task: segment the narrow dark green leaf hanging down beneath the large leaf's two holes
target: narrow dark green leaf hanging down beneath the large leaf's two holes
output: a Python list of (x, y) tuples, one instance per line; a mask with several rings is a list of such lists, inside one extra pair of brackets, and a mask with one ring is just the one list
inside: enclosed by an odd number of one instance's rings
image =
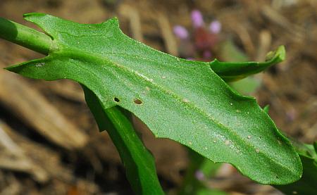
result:
[(164, 194), (156, 175), (154, 158), (144, 147), (128, 118), (116, 107), (104, 110), (97, 96), (87, 87), (82, 88), (99, 130), (107, 130), (116, 145), (135, 193)]

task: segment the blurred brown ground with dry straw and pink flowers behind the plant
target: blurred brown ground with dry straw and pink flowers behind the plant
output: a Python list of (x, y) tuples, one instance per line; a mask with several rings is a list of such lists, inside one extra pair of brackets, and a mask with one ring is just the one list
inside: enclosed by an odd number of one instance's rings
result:
[[(199, 61), (264, 61), (283, 44), (284, 62), (231, 85), (256, 96), (260, 106), (270, 105), (271, 118), (285, 134), (306, 143), (317, 139), (316, 0), (0, 1), (0, 17), (39, 30), (23, 20), (30, 12), (78, 23), (117, 16), (128, 36)], [(1, 69), (41, 57), (0, 39)], [(132, 120), (154, 154), (163, 189), (176, 194), (184, 187), (187, 149), (154, 139), (142, 122)], [(228, 164), (217, 165), (209, 177), (204, 172), (193, 177), (226, 194), (281, 194)], [(78, 84), (0, 70), (0, 194), (132, 194), (116, 148), (97, 130)]]

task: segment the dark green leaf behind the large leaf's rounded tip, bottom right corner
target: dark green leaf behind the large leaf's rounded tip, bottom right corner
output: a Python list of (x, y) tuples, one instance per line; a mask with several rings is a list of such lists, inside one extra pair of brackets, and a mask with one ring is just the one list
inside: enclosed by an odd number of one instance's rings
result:
[[(317, 141), (315, 142), (315, 144)], [(313, 145), (293, 141), (303, 164), (303, 176), (297, 182), (284, 186), (275, 186), (285, 194), (316, 194), (317, 191), (317, 151)]]

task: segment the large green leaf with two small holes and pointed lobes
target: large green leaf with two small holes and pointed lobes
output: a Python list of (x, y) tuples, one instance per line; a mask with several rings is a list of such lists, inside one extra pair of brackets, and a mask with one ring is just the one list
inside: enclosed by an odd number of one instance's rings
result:
[(222, 70), (221, 63), (187, 61), (151, 49), (123, 34), (116, 18), (94, 25), (42, 13), (25, 19), (42, 27), (54, 44), (49, 56), (8, 70), (80, 82), (104, 109), (121, 106), (156, 137), (185, 144), (214, 162), (231, 163), (262, 184), (287, 184), (302, 175), (290, 141), (255, 99), (232, 92), (211, 70), (212, 65)]

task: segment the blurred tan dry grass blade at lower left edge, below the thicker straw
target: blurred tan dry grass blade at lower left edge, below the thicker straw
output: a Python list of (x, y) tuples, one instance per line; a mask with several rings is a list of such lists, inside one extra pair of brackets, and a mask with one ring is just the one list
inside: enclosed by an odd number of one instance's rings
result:
[(1, 168), (27, 172), (41, 183), (51, 178), (64, 182), (74, 180), (71, 172), (61, 165), (58, 153), (26, 139), (1, 121), (0, 146), (6, 151), (1, 153)]

